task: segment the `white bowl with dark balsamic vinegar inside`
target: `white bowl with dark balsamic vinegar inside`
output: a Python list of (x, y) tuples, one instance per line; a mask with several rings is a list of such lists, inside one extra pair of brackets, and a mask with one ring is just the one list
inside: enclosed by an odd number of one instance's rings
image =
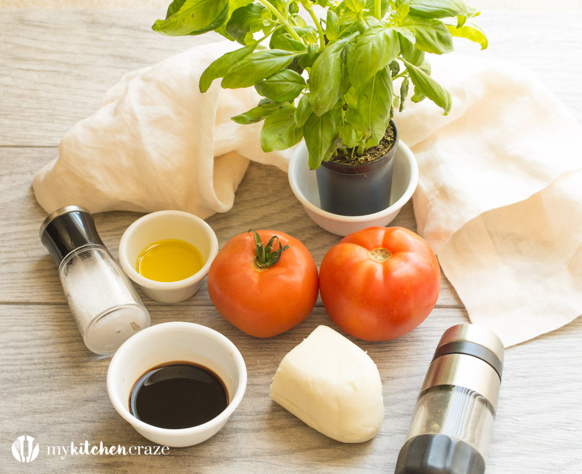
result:
[(162, 323), (130, 337), (107, 372), (113, 408), (142, 436), (170, 447), (214, 436), (246, 384), (236, 346), (213, 329), (187, 322)]

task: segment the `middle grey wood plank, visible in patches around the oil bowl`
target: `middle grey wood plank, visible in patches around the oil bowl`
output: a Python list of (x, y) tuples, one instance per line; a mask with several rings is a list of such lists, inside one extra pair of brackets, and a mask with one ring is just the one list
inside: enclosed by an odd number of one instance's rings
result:
[[(65, 304), (55, 262), (38, 237), (46, 213), (37, 204), (31, 189), (34, 173), (47, 160), (47, 155), (52, 156), (55, 152), (56, 148), (0, 148), (0, 265), (5, 275), (0, 280), (0, 302)], [(123, 232), (141, 215), (136, 212), (95, 215), (101, 238), (115, 256)], [(211, 216), (207, 222), (217, 233), (220, 247), (230, 237), (251, 228), (292, 234), (306, 245), (318, 266), (325, 252), (340, 240), (307, 217), (303, 206), (294, 197), (285, 173), (258, 163), (251, 163), (237, 190), (233, 208)], [(416, 230), (411, 202), (404, 206), (393, 225)], [(196, 296), (181, 305), (212, 304), (205, 285), (204, 280)], [(157, 304), (144, 294), (141, 296), (148, 307)], [(444, 276), (438, 304), (462, 307), (455, 289)]]

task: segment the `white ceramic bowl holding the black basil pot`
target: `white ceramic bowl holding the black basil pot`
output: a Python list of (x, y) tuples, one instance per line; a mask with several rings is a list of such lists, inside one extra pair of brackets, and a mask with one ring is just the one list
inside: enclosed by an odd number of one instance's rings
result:
[(416, 158), (410, 148), (400, 140), (394, 156), (391, 205), (382, 211), (364, 216), (333, 214), (320, 207), (317, 177), (315, 171), (309, 169), (308, 158), (307, 147), (303, 141), (295, 149), (289, 162), (289, 184), (308, 216), (322, 229), (338, 236), (347, 236), (366, 227), (388, 225), (412, 197), (418, 184)]

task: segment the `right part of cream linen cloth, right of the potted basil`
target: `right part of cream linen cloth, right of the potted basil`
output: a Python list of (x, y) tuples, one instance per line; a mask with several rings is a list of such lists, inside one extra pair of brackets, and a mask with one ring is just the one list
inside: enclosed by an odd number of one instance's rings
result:
[(418, 233), (471, 322), (506, 346), (582, 313), (582, 130), (528, 70), (463, 56), (434, 60), (453, 99), (398, 118), (418, 160)]

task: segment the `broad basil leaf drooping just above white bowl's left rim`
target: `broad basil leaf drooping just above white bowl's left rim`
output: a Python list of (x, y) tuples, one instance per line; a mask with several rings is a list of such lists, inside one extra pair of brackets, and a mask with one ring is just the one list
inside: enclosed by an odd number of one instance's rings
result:
[(261, 129), (261, 148), (265, 152), (284, 150), (299, 143), (303, 127), (297, 127), (294, 107), (285, 107), (265, 119)]

